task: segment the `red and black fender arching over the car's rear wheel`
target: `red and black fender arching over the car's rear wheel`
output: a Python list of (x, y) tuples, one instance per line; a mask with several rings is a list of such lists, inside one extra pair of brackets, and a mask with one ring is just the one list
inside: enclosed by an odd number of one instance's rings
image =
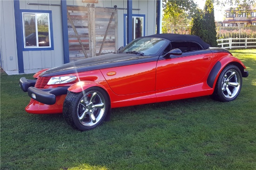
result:
[(213, 66), (213, 68), (211, 69), (209, 76), (207, 78), (207, 84), (210, 88), (215, 88), (215, 85), (216, 85), (219, 75), (221, 74), (222, 70), (229, 64), (236, 65), (240, 69), (240, 71), (243, 75), (244, 69), (246, 69), (246, 67), (239, 59), (237, 59), (236, 57), (232, 57), (232, 56), (222, 57)]

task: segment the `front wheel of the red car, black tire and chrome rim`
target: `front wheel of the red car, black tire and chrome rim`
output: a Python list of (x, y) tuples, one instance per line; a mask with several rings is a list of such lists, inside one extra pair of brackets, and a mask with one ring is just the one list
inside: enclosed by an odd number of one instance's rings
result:
[(87, 131), (101, 125), (108, 107), (108, 94), (101, 88), (92, 87), (80, 93), (69, 91), (63, 103), (63, 117), (75, 129)]

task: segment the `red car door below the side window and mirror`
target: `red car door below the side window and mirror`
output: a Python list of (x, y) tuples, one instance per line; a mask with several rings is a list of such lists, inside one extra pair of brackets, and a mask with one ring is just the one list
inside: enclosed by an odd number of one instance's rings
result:
[(159, 57), (155, 90), (177, 88), (200, 82), (212, 62), (210, 50), (183, 52), (182, 55)]

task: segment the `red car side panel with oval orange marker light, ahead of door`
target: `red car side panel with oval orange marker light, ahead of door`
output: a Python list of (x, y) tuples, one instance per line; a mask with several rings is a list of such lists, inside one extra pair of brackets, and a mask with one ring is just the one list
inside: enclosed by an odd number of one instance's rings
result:
[(109, 69), (101, 69), (109, 87), (115, 94), (137, 94), (155, 90), (155, 61), (143, 62)]

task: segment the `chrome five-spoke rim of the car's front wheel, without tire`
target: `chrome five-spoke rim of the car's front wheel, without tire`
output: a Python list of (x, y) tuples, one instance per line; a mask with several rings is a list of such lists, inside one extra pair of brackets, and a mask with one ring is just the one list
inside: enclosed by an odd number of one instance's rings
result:
[(77, 106), (77, 117), (83, 126), (93, 126), (101, 120), (105, 112), (104, 96), (98, 91), (90, 91), (81, 98)]

